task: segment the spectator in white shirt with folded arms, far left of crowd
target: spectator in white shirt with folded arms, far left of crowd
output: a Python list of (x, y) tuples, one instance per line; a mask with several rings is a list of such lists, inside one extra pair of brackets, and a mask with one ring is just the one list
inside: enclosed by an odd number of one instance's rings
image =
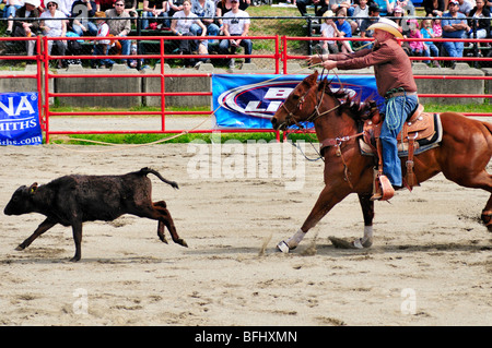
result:
[[(43, 12), (39, 16), (39, 27), (43, 34), (47, 37), (65, 37), (67, 34), (67, 21), (55, 20), (66, 19), (63, 12), (58, 11), (58, 0), (48, 0), (46, 4), (47, 11)], [(67, 40), (48, 40), (48, 55), (51, 55), (52, 46), (58, 49), (59, 56), (65, 56), (67, 51)], [(63, 68), (63, 62), (58, 60), (58, 68)]]

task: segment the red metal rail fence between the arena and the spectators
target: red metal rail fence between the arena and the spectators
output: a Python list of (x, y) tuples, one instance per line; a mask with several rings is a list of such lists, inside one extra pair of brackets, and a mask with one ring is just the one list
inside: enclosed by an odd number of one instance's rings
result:
[[(180, 92), (180, 93), (169, 93), (165, 91), (165, 77), (207, 77), (210, 76), (209, 73), (190, 73), (190, 74), (173, 74), (167, 73), (164, 69), (164, 62), (167, 59), (183, 59), (183, 58), (197, 58), (196, 55), (169, 55), (164, 51), (165, 43), (167, 40), (180, 40), (180, 39), (202, 39), (203, 37), (176, 37), (176, 36), (163, 36), (163, 37), (145, 37), (147, 40), (155, 40), (159, 43), (160, 46), (160, 52), (155, 55), (138, 55), (138, 56), (110, 56), (112, 59), (160, 59), (161, 60), (161, 70), (159, 72), (153, 73), (145, 73), (144, 77), (159, 77), (160, 79), (160, 87), (161, 91), (159, 93), (55, 93), (50, 91), (50, 81), (56, 79), (80, 79), (80, 77), (87, 77), (87, 74), (56, 74), (52, 73), (49, 69), (49, 63), (52, 60), (58, 59), (105, 59), (108, 58), (108, 56), (50, 56), (48, 55), (48, 39), (52, 40), (75, 40), (81, 39), (80, 37), (60, 37), (60, 38), (48, 38), (48, 37), (34, 37), (34, 38), (0, 38), (0, 41), (3, 40), (36, 40), (37, 49), (35, 56), (0, 56), (1, 60), (30, 60), (35, 61), (37, 65), (37, 72), (33, 74), (7, 74), (1, 75), (3, 79), (36, 79), (37, 83), (37, 92), (39, 95), (43, 95), (43, 105), (42, 98), (39, 99), (39, 110), (40, 110), (40, 124), (43, 128), (43, 131), (46, 134), (46, 142), (49, 143), (50, 135), (54, 134), (124, 134), (124, 133), (183, 133), (183, 132), (189, 132), (189, 133), (210, 133), (214, 130), (168, 130), (166, 128), (166, 116), (167, 115), (204, 115), (204, 116), (211, 116), (213, 113), (213, 110), (210, 111), (166, 111), (166, 105), (165, 105), (165, 98), (166, 96), (211, 96), (211, 92)], [(213, 37), (210, 37), (212, 39)], [(229, 37), (221, 37), (221, 39), (227, 39)], [(231, 37), (235, 38), (235, 37)], [(288, 70), (288, 62), (290, 60), (295, 59), (305, 59), (306, 56), (295, 56), (289, 53), (289, 44), (292, 40), (309, 40), (313, 41), (313, 37), (288, 37), (288, 36), (262, 36), (262, 37), (246, 37), (253, 40), (256, 39), (262, 39), (262, 40), (273, 40), (274, 41), (274, 51), (270, 55), (211, 55), (207, 56), (207, 58), (211, 59), (229, 59), (229, 58), (261, 58), (261, 59), (271, 59), (274, 62), (274, 72), (277, 74), (281, 73), (280, 71), (280, 63), (283, 64), (282, 73), (286, 74)], [(98, 40), (101, 38), (97, 37), (83, 37), (84, 40)], [(119, 39), (128, 39), (128, 40), (138, 40), (141, 39), (141, 37), (121, 37)], [(316, 38), (316, 40), (323, 40), (324, 38)], [(337, 39), (337, 38), (331, 38)], [(339, 38), (338, 38), (339, 39)], [(349, 39), (349, 38), (347, 38)], [(367, 39), (361, 39), (361, 38), (350, 38), (351, 40), (365, 40)], [(405, 40), (405, 39), (403, 39)], [(429, 39), (412, 39), (412, 40), (429, 40)], [(435, 39), (435, 41), (444, 41), (446, 39)], [(491, 44), (491, 39), (459, 39), (460, 41), (465, 43), (487, 43)], [(43, 47), (43, 50), (42, 50)], [(204, 56), (200, 56), (204, 57)], [(440, 61), (491, 61), (490, 58), (477, 58), (477, 57), (462, 57), (462, 58), (452, 58), (452, 57), (411, 57), (412, 60), (434, 60), (438, 59)], [(104, 74), (97, 74), (97, 77), (101, 79), (120, 79), (120, 77), (141, 77), (140, 74), (134, 73), (115, 73), (115, 72), (108, 72)], [(465, 75), (415, 75), (415, 79), (434, 79), (434, 80), (491, 80), (492, 76), (465, 76)], [(49, 127), (49, 119), (51, 116), (105, 116), (105, 115), (115, 115), (115, 111), (83, 111), (83, 112), (56, 112), (51, 111), (51, 107), (49, 104), (49, 99), (51, 97), (115, 97), (115, 96), (157, 96), (161, 97), (161, 110), (159, 111), (118, 111), (118, 115), (121, 116), (143, 116), (143, 115), (152, 115), (152, 116), (160, 116), (161, 117), (161, 129), (160, 130), (131, 130), (131, 131), (118, 131), (118, 130), (110, 130), (110, 131), (101, 131), (101, 130), (93, 130), (93, 131), (52, 131)], [(436, 97), (446, 97), (446, 98), (492, 98), (492, 94), (419, 94), (420, 97), (429, 97), (429, 98), (436, 98)], [(492, 115), (489, 113), (466, 113), (467, 116), (481, 116), (481, 117), (490, 117)], [(221, 130), (222, 131), (222, 130)], [(239, 130), (226, 130), (225, 132), (273, 132), (271, 129), (260, 129), (260, 130), (247, 130), (247, 129), (239, 129)], [(279, 132), (276, 132), (277, 139), (280, 139)]]

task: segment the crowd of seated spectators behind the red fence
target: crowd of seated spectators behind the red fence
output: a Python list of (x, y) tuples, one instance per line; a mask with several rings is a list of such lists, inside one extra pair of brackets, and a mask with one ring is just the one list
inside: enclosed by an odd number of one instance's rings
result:
[[(142, 29), (166, 29), (175, 36), (203, 37), (176, 41), (176, 55), (199, 53), (200, 59), (186, 60), (199, 67), (207, 62), (211, 50), (221, 55), (233, 55), (243, 47), (245, 55), (251, 55), (253, 43), (243, 38), (249, 34), (249, 14), (246, 9), (250, 0), (0, 0), (0, 10), (7, 21), (5, 34), (13, 37), (98, 37), (92, 43), (94, 56), (109, 53), (137, 53), (136, 44), (119, 37), (129, 36), (132, 24)], [(142, 1), (142, 3), (139, 3)], [(425, 19), (417, 20), (411, 0), (294, 0), (301, 15), (308, 15), (308, 5), (315, 5), (314, 14), (321, 17), (319, 25), (320, 49), (327, 52), (352, 52), (358, 47), (371, 47), (372, 41), (333, 40), (354, 36), (371, 38), (367, 28), (379, 17), (387, 16), (400, 27), (403, 37), (422, 40), (405, 41), (409, 56), (462, 57), (462, 41), (434, 43), (434, 38), (490, 38), (491, 7), (488, 0), (423, 0)], [(137, 10), (140, 9), (140, 19)], [(15, 20), (19, 19), (19, 20)], [(3, 22), (5, 23), (5, 22)], [(211, 39), (215, 37), (216, 39)], [(221, 39), (234, 36), (234, 39)], [(207, 39), (204, 37), (208, 37)], [(331, 38), (331, 40), (330, 40)], [(59, 56), (80, 55), (79, 40), (48, 40), (48, 51)], [(35, 41), (23, 41), (27, 55), (33, 55)], [(131, 62), (130, 62), (131, 61)], [(136, 60), (120, 60), (128, 67)], [(249, 62), (246, 58), (245, 62)], [(440, 67), (435, 59), (424, 60)], [(93, 59), (92, 68), (112, 67), (112, 59)], [(65, 67), (59, 61), (58, 67)], [(229, 60), (235, 67), (235, 60)]]

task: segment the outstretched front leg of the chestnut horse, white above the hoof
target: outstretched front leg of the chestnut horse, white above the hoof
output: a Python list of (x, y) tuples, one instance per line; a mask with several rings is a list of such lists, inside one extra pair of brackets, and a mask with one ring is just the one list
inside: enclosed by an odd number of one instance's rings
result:
[(350, 191), (340, 192), (336, 191), (333, 185), (326, 185), (319, 194), (315, 206), (311, 211), (303, 226), (294, 233), (294, 236), (278, 243), (277, 249), (284, 253), (288, 253), (290, 250), (294, 250), (303, 240), (304, 236), (306, 236), (307, 231), (315, 227), (316, 224), (318, 224), (319, 220), (349, 193)]

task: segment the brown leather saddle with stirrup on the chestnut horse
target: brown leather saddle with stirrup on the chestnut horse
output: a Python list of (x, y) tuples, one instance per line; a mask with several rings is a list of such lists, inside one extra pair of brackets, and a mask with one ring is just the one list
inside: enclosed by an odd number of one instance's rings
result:
[[(405, 185), (411, 191), (419, 185), (413, 172), (413, 155), (421, 154), (427, 149), (438, 146), (443, 132), (438, 113), (424, 112), (424, 107), (419, 104), (417, 109), (405, 122), (398, 134), (398, 156), (408, 157), (406, 161)], [(361, 154), (374, 156), (378, 159), (374, 170), (374, 185), (372, 200), (387, 201), (393, 197), (395, 190), (386, 176), (383, 175), (383, 151), (380, 144), (380, 116), (374, 112), (362, 127), (363, 136), (359, 139)]]

